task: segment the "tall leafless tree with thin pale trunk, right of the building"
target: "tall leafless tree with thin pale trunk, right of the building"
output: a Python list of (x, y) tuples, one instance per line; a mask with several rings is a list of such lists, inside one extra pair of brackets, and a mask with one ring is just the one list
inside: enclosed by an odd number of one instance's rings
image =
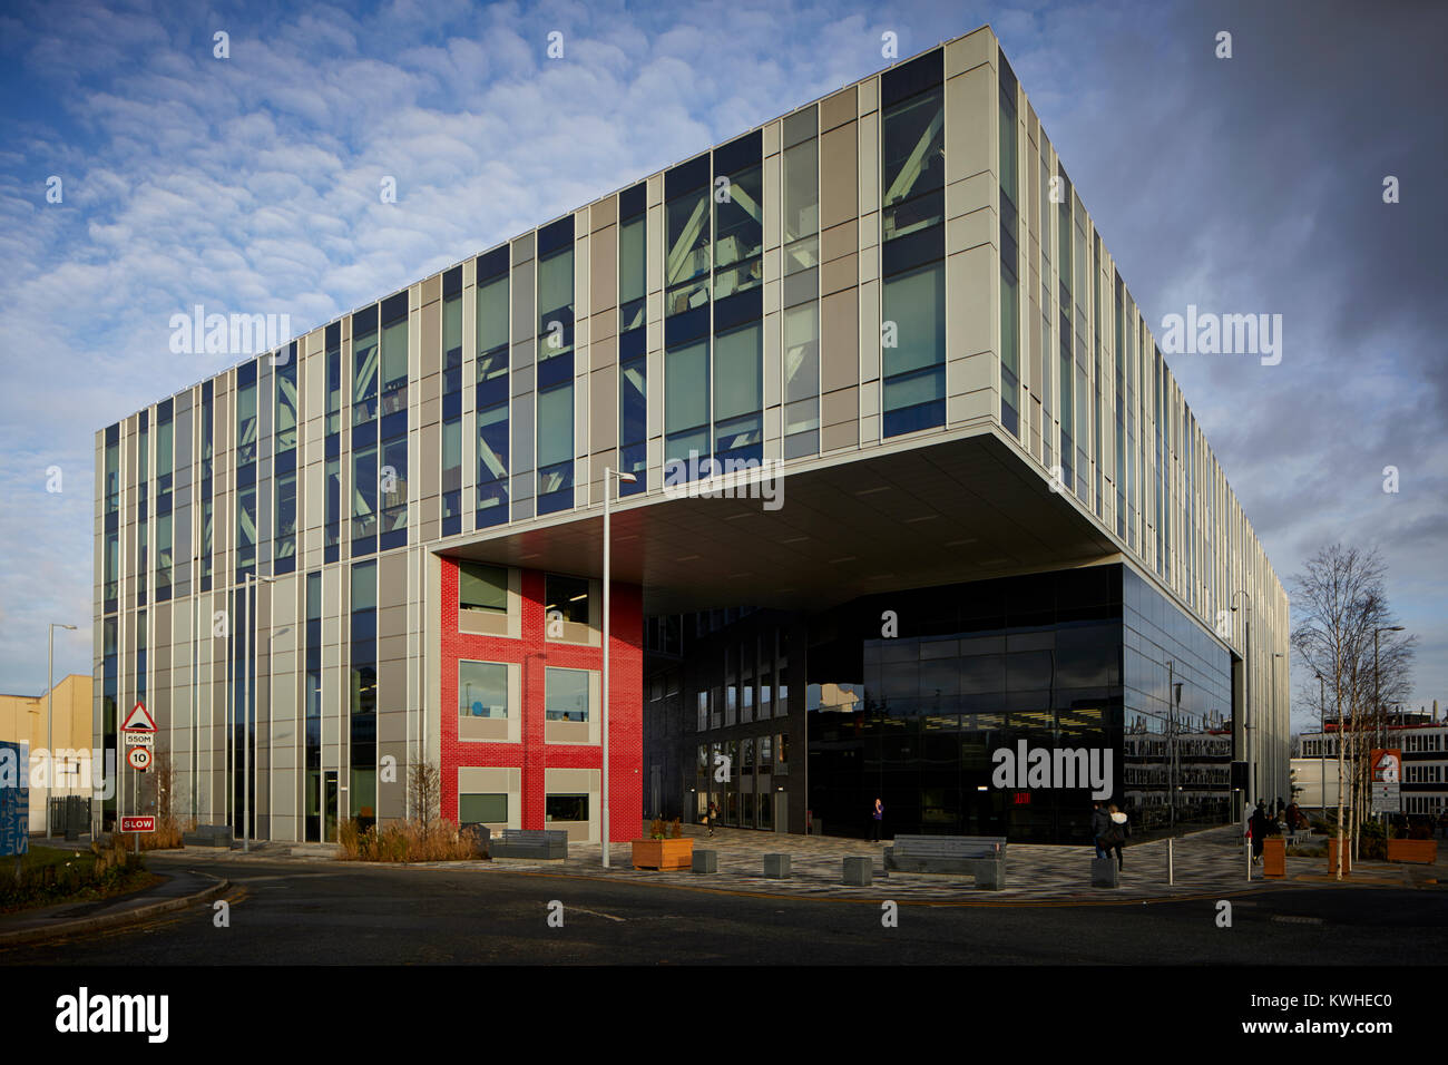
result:
[[(1297, 625), (1292, 632), (1292, 646), (1308, 668), (1322, 674), (1337, 706), (1338, 880), (1342, 878), (1347, 845), (1344, 816), (1351, 817), (1352, 827), (1347, 835), (1355, 845), (1360, 819), (1365, 813), (1367, 767), (1361, 752), (1368, 723), (1377, 723), (1378, 700), (1374, 693), (1378, 687), (1384, 693), (1406, 691), (1410, 675), (1412, 638), (1384, 642), (1378, 653), (1381, 668), (1374, 671), (1373, 633), (1393, 625), (1386, 581), (1387, 567), (1376, 549), (1364, 552), (1342, 543), (1321, 548), (1308, 559), (1303, 572), (1293, 578)], [(1347, 782), (1352, 785), (1352, 801), (1344, 810)]]

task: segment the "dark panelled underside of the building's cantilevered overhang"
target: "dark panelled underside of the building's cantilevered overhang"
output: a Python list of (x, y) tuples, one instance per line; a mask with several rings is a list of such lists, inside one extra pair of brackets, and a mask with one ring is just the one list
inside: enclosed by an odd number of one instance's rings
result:
[[(613, 507), (614, 581), (641, 585), (649, 614), (818, 610), (877, 591), (1119, 558), (1080, 503), (1053, 493), (989, 426), (794, 461), (773, 493), (769, 500), (766, 483), (763, 498), (626, 497)], [(598, 577), (602, 507), (465, 533), (434, 551)]]

